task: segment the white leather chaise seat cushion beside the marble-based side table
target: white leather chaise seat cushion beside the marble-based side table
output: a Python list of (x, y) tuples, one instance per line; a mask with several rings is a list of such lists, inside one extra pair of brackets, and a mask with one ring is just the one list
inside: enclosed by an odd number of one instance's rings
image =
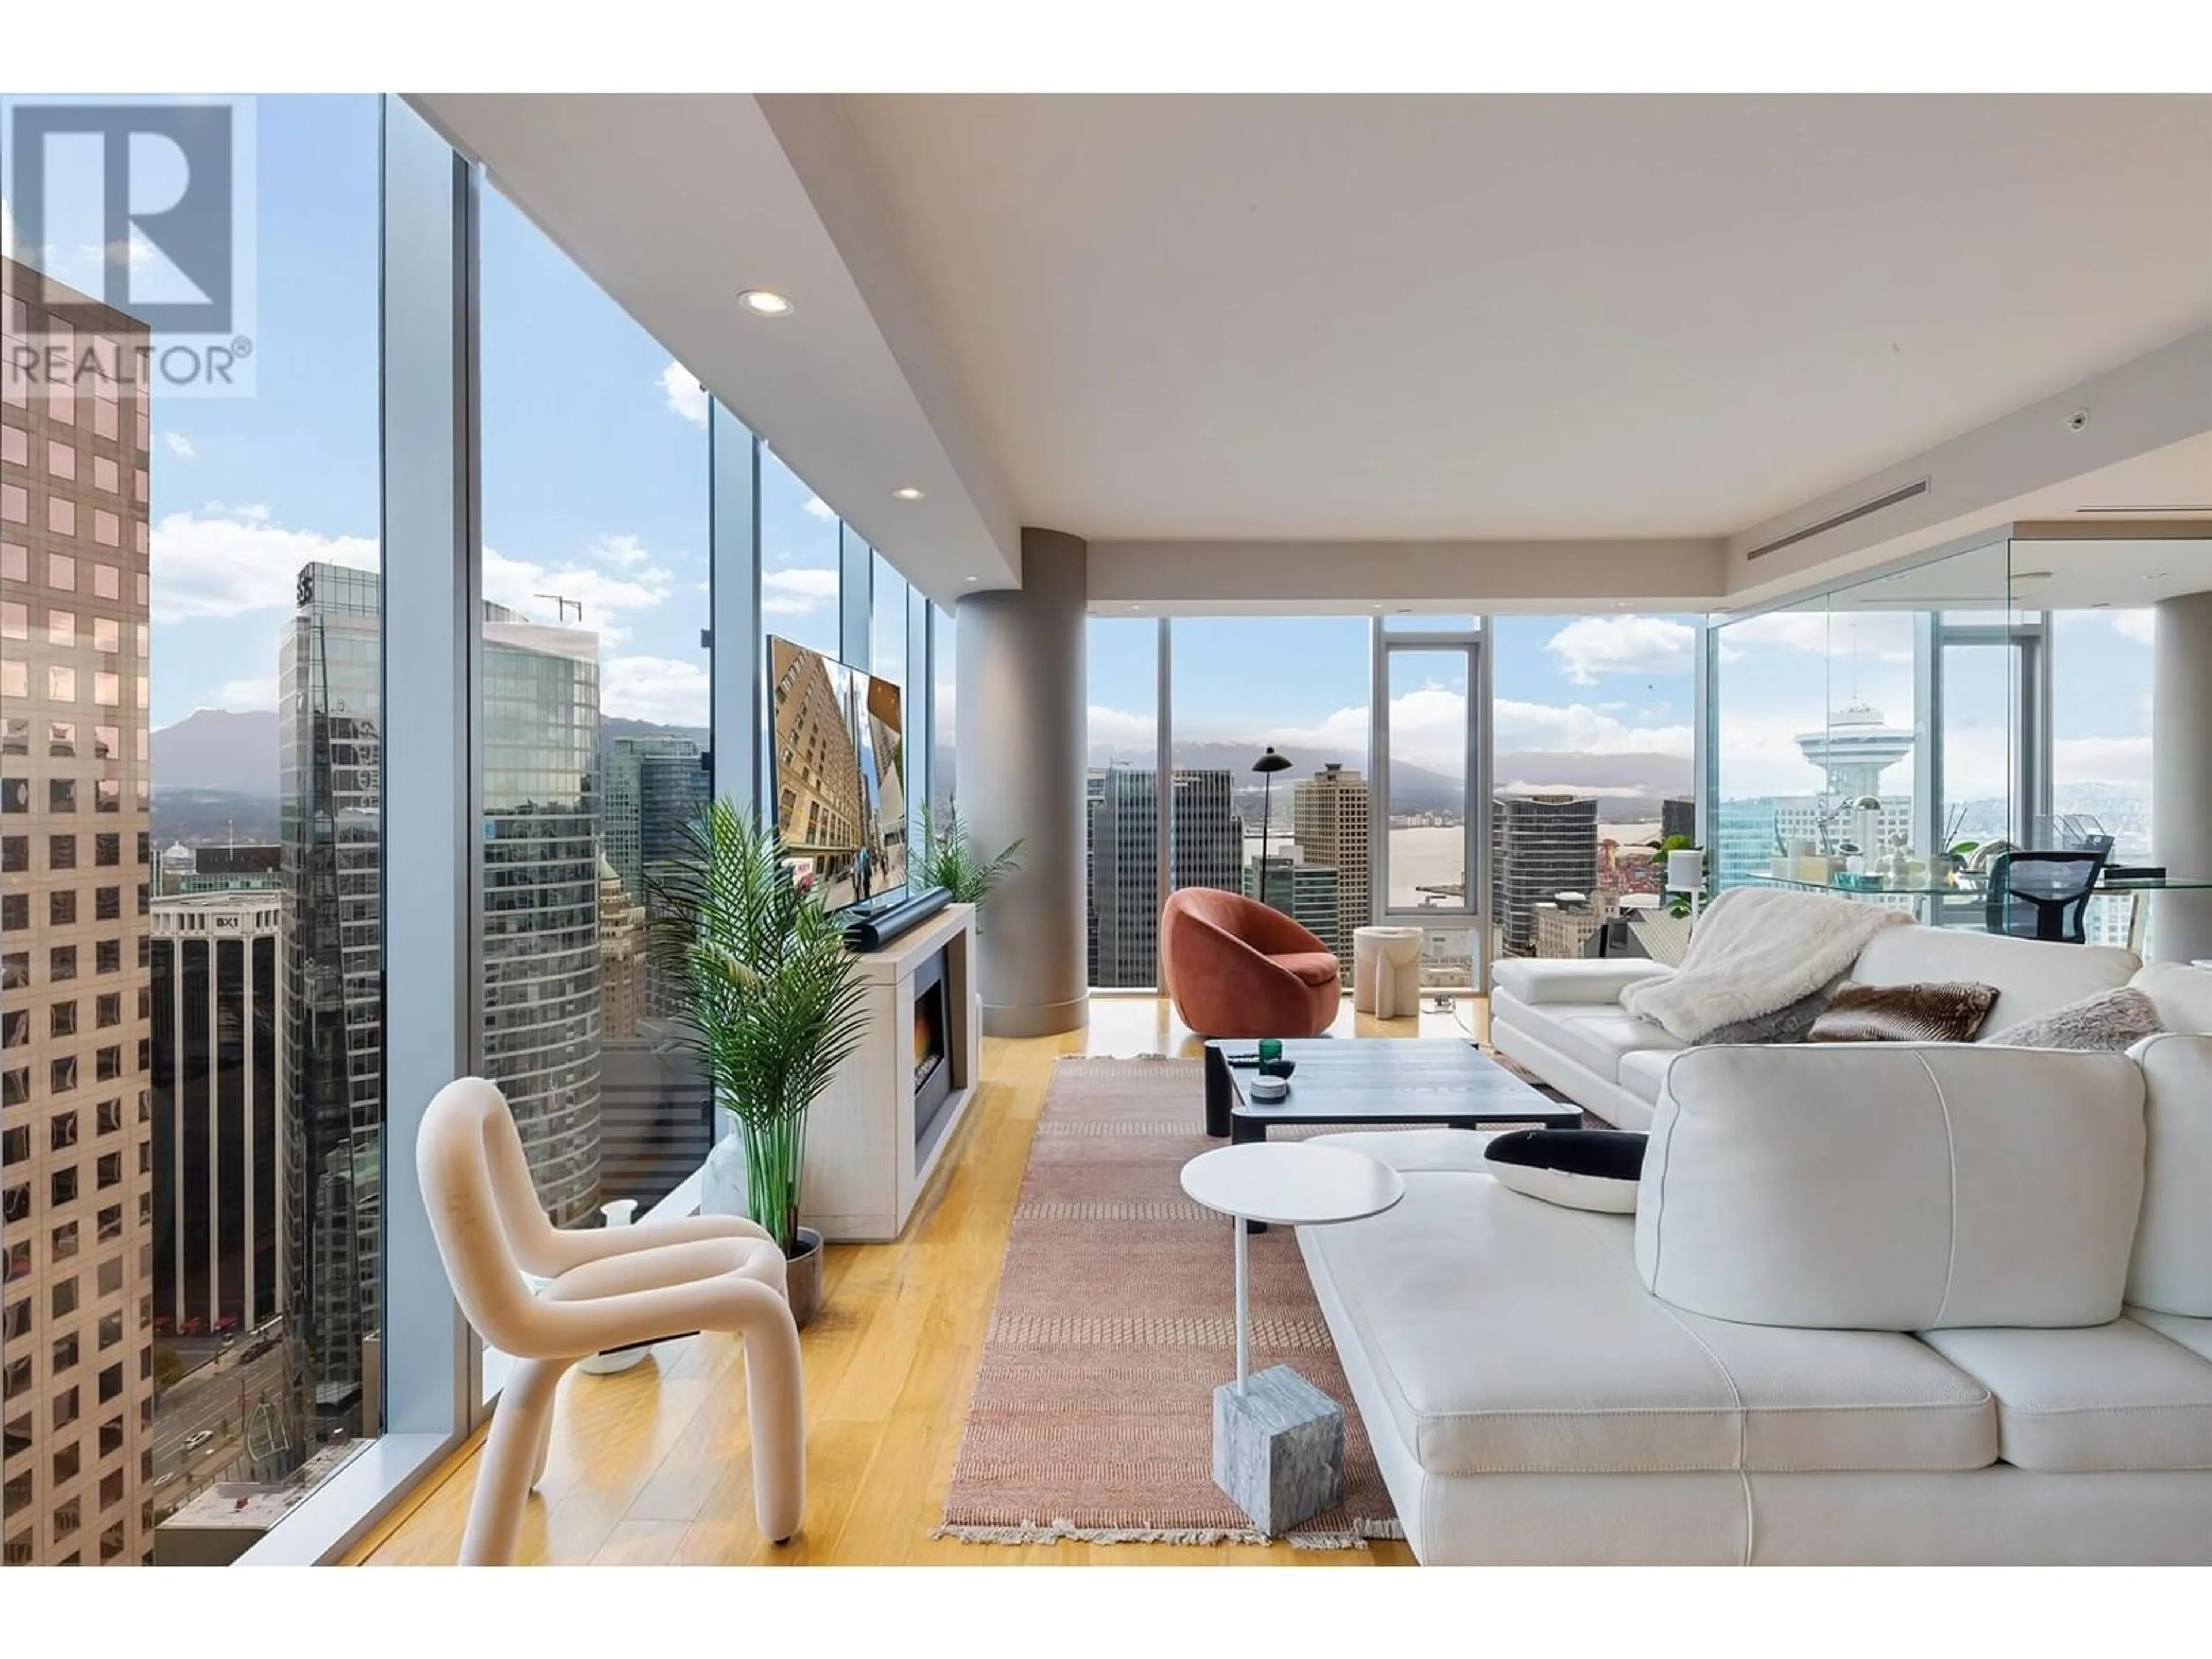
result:
[[(1398, 1137), (1332, 1139), (1387, 1152)], [(1387, 1422), (1363, 1402), (1369, 1433), (1396, 1431), (1429, 1475), (1995, 1458), (1989, 1391), (1909, 1336), (1697, 1318), (1644, 1292), (1628, 1217), (1478, 1175), (1405, 1186), (1394, 1210), (1303, 1228), (1298, 1248), (1387, 1402)]]

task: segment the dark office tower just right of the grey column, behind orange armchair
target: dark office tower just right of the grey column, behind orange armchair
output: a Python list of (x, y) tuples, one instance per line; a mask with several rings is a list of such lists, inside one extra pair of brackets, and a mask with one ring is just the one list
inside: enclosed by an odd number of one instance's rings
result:
[[(1177, 770), (1172, 783), (1170, 887), (1241, 889), (1243, 821), (1232, 779)], [(1093, 982), (1152, 984), (1159, 971), (1159, 774), (1113, 765), (1091, 807)]]

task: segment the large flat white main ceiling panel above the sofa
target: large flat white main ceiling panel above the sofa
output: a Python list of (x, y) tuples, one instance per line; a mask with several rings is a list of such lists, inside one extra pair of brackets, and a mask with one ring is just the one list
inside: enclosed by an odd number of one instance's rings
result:
[(1022, 522), (1723, 535), (2212, 319), (2212, 100), (843, 97)]

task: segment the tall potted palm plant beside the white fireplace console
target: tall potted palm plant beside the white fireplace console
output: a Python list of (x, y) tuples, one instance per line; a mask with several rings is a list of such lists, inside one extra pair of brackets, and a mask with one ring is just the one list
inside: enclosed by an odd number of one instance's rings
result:
[(821, 1307), (821, 1234), (799, 1225), (807, 1108), (860, 1044), (865, 987), (845, 931), (792, 880), (783, 841), (721, 799), (646, 874), (653, 949), (688, 989), (677, 1013), (734, 1121), (745, 1214), (781, 1245), (792, 1316)]

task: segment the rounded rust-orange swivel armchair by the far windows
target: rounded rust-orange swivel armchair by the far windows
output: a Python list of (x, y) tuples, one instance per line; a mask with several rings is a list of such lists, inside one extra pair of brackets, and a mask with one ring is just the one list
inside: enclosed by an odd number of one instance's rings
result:
[(1159, 916), (1159, 964), (1206, 1037), (1316, 1037), (1343, 1004), (1343, 964), (1290, 916), (1217, 887), (1181, 887)]

